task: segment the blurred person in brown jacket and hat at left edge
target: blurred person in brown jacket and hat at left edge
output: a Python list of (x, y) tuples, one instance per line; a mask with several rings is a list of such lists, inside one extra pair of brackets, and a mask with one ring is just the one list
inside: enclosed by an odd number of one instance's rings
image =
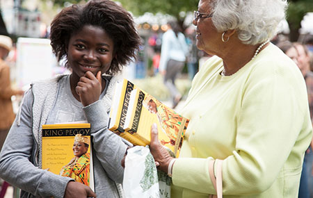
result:
[(22, 90), (11, 88), (10, 67), (5, 60), (12, 49), (12, 45), (11, 38), (6, 35), (0, 35), (0, 151), (10, 126), (15, 119), (11, 97), (24, 94)]

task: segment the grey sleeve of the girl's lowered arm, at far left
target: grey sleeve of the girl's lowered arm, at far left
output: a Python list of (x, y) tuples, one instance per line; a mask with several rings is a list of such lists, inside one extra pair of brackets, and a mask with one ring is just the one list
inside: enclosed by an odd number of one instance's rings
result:
[(28, 91), (20, 107), (20, 125), (17, 126), (17, 117), (1, 150), (0, 177), (36, 197), (62, 198), (72, 179), (41, 170), (31, 163), (31, 154), (36, 147), (31, 128), (32, 103), (33, 95)]

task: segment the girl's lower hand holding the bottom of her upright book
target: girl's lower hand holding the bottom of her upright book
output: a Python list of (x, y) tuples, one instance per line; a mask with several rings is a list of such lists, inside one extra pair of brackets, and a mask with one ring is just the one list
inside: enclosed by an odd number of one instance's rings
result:
[(93, 190), (91, 190), (87, 185), (84, 185), (83, 183), (79, 183), (77, 181), (70, 181), (69, 183), (67, 183), (64, 198), (72, 197), (86, 198), (97, 197), (97, 195), (95, 195), (95, 192), (93, 192)]

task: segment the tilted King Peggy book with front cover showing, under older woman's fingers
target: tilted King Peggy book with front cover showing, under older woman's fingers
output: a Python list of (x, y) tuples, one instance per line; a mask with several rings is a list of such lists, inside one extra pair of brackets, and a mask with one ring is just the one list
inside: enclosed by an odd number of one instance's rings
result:
[(161, 144), (178, 157), (188, 122), (147, 92), (139, 88), (131, 91), (124, 129), (131, 134), (129, 141), (134, 145), (149, 145), (151, 126), (157, 123)]

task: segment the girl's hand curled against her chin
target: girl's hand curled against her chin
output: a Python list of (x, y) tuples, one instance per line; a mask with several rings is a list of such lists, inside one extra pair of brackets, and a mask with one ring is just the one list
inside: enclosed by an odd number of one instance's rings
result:
[(93, 75), (92, 72), (86, 72), (85, 76), (82, 76), (77, 83), (75, 90), (79, 94), (79, 99), (83, 106), (88, 106), (98, 101), (102, 91), (101, 72), (99, 71), (97, 76)]

